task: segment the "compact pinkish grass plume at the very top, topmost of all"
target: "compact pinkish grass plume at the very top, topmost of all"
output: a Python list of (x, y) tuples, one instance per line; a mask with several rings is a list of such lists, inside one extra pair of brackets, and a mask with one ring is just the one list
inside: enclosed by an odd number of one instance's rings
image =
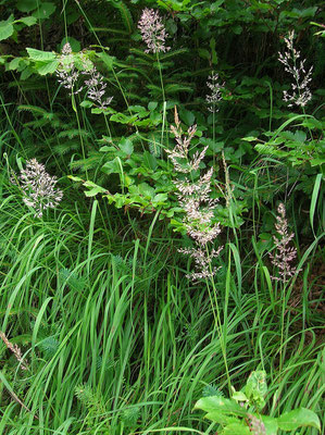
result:
[(171, 47), (165, 46), (165, 39), (168, 36), (161, 16), (153, 9), (143, 9), (141, 18), (138, 23), (141, 32), (142, 40), (147, 44), (146, 53), (159, 53), (160, 51), (168, 51)]

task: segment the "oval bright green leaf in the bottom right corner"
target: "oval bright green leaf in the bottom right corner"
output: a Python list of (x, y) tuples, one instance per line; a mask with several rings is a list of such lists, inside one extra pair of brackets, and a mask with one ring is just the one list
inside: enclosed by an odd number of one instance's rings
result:
[(321, 422), (317, 414), (307, 408), (293, 409), (277, 419), (278, 427), (283, 431), (296, 431), (301, 426), (312, 426), (321, 431)]

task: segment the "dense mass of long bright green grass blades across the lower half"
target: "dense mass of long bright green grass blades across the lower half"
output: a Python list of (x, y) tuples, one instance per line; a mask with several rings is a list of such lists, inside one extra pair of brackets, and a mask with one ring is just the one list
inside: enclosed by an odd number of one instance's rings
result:
[[(207, 388), (228, 391), (213, 301), (186, 279), (164, 226), (149, 240), (130, 225), (128, 241), (111, 238), (108, 250), (101, 206), (39, 222), (16, 195), (2, 197), (1, 331), (28, 370), (1, 346), (0, 432), (212, 434), (192, 408)], [(216, 295), (232, 384), (263, 366), (276, 397), (271, 415), (321, 412), (321, 320), (300, 331), (293, 312), (282, 340), (280, 303), (270, 306), (265, 282), (255, 291), (257, 281), (243, 281), (240, 290), (238, 268), (232, 279), (221, 274)]]

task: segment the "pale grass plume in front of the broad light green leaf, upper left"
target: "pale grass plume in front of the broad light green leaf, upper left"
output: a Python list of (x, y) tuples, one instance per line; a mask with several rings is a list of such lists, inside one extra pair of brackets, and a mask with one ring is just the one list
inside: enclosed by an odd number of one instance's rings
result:
[(58, 82), (61, 83), (65, 89), (70, 89), (70, 95), (76, 95), (83, 90), (83, 86), (75, 89), (80, 73), (74, 64), (74, 57), (68, 42), (66, 42), (62, 48), (60, 64), (55, 74)]

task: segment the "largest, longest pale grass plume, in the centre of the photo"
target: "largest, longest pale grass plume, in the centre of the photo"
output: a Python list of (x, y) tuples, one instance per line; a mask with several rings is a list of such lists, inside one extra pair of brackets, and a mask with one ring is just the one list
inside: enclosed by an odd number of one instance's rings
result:
[(199, 170), (208, 147), (201, 152), (197, 151), (192, 157), (189, 157), (189, 145), (196, 134), (197, 126), (189, 127), (187, 134), (183, 135), (176, 110), (175, 124), (176, 126), (171, 126), (171, 130), (175, 135), (176, 146), (173, 150), (167, 150), (167, 153), (173, 162), (175, 172), (182, 176), (182, 179), (174, 182), (177, 188), (176, 196), (179, 206), (185, 211), (183, 223), (188, 235), (195, 241), (193, 248), (179, 249), (179, 252), (193, 259), (196, 270), (188, 274), (187, 277), (197, 281), (212, 277), (215, 274), (216, 268), (211, 266), (211, 261), (213, 258), (218, 257), (222, 250), (222, 247), (209, 249), (209, 244), (213, 243), (221, 233), (220, 224), (213, 223), (214, 208), (217, 200), (210, 197), (213, 167), (205, 174), (200, 175), (196, 182), (189, 177), (192, 175), (192, 171)]

